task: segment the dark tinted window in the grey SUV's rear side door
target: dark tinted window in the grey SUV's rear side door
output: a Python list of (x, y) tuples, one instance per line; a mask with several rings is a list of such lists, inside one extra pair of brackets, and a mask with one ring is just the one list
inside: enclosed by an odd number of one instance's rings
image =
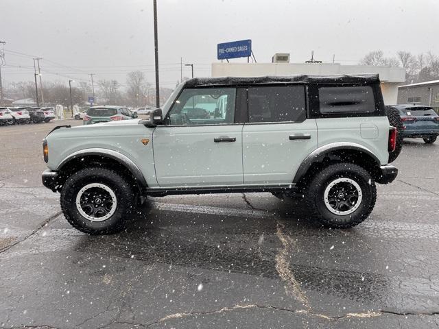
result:
[(301, 122), (305, 119), (304, 86), (248, 88), (248, 122)]

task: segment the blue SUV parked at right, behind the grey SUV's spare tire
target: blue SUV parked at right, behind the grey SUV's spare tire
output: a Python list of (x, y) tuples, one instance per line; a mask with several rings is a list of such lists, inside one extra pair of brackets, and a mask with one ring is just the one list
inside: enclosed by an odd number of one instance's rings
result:
[(423, 138), (427, 144), (434, 143), (439, 135), (439, 115), (430, 106), (390, 105), (398, 110), (403, 138)]

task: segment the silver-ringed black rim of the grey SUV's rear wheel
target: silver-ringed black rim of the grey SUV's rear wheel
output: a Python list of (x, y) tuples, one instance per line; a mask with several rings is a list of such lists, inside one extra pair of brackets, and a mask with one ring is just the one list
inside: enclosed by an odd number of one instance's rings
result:
[(349, 215), (361, 204), (363, 193), (351, 178), (337, 178), (324, 190), (324, 204), (335, 215)]

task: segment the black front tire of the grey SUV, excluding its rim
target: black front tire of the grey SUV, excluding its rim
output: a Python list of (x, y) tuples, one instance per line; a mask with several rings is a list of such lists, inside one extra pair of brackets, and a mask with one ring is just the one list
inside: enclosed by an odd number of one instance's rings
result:
[[(91, 221), (83, 217), (76, 207), (76, 196), (86, 184), (101, 183), (116, 195), (114, 214), (104, 221)], [(87, 234), (113, 234), (124, 230), (126, 221), (135, 211), (135, 193), (128, 180), (115, 171), (104, 168), (86, 168), (73, 173), (62, 186), (61, 209), (74, 228)]]

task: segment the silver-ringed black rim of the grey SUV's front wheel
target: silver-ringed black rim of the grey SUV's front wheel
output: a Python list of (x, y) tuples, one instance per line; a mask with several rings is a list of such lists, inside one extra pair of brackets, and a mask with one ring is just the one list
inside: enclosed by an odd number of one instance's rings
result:
[(76, 208), (89, 221), (105, 221), (116, 211), (116, 195), (104, 184), (87, 184), (76, 195)]

